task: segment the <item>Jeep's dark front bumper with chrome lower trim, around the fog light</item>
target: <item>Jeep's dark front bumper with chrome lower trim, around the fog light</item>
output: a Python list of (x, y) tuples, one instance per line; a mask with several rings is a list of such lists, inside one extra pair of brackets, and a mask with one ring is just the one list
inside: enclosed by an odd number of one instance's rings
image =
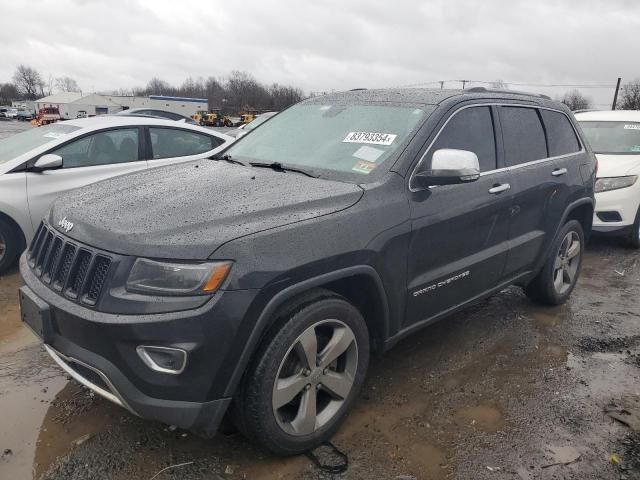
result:
[[(231, 403), (225, 390), (240, 354), (234, 345), (255, 291), (219, 292), (181, 312), (116, 315), (52, 291), (24, 255), (20, 271), (21, 296), (46, 309), (45, 349), (69, 375), (140, 417), (215, 433)], [(153, 371), (137, 354), (139, 345), (184, 349), (187, 366), (179, 375)]]

